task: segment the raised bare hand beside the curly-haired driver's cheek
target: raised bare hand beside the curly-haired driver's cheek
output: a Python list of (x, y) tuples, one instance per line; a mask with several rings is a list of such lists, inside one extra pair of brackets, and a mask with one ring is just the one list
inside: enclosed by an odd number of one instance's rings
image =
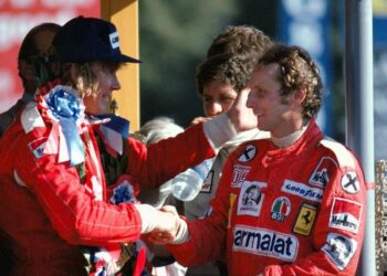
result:
[(257, 116), (247, 107), (250, 88), (245, 87), (238, 94), (227, 115), (238, 132), (257, 128)]

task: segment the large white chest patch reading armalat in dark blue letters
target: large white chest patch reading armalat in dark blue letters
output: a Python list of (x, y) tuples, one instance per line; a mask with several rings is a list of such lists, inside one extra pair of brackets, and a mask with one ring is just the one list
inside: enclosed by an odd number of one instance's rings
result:
[(266, 229), (236, 225), (232, 251), (293, 262), (297, 256), (299, 240), (294, 235)]

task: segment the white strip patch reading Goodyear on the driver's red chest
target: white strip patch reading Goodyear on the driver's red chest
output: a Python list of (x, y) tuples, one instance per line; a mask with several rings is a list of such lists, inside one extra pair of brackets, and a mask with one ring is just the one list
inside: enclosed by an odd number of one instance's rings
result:
[(320, 188), (312, 188), (304, 183), (295, 182), (289, 179), (285, 179), (285, 181), (283, 182), (282, 191), (306, 200), (317, 202), (322, 201), (324, 193), (324, 190)]

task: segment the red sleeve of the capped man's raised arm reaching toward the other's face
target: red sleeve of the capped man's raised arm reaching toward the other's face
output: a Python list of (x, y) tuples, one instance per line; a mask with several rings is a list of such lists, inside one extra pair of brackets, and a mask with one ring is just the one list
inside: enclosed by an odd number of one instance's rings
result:
[(187, 128), (182, 134), (145, 146), (129, 138), (127, 140), (127, 173), (142, 184), (157, 187), (179, 172), (215, 156), (202, 124)]

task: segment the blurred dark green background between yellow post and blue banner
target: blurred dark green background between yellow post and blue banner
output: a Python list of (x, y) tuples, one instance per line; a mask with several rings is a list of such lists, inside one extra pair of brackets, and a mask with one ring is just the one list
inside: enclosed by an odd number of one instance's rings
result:
[(172, 117), (187, 127), (202, 115), (196, 66), (229, 24), (249, 24), (274, 36), (275, 1), (140, 0), (140, 120)]

